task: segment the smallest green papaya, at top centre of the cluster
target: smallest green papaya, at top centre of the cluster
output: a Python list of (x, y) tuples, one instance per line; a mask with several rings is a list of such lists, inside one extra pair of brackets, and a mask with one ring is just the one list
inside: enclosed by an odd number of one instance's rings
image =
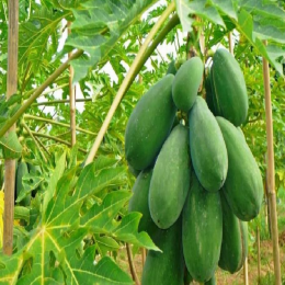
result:
[(173, 80), (173, 101), (179, 110), (189, 112), (193, 106), (203, 79), (204, 65), (200, 57), (186, 60)]

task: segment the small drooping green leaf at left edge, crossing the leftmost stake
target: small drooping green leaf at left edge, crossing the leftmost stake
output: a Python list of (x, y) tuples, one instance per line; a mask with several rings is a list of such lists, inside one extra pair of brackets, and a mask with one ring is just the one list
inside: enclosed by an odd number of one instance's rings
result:
[(15, 132), (10, 132), (0, 138), (0, 148), (2, 148), (4, 159), (18, 159), (22, 156), (22, 146)]

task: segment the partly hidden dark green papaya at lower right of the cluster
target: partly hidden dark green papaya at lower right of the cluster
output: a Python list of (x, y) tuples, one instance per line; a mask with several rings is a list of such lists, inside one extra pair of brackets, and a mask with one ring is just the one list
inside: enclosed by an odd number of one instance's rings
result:
[(223, 242), (219, 266), (232, 274), (242, 267), (248, 255), (248, 224), (233, 215), (223, 193), (220, 200), (223, 207)]

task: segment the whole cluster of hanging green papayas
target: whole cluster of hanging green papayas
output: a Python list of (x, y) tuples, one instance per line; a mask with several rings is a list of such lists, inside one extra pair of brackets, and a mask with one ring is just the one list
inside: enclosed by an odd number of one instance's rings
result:
[[(263, 197), (260, 169), (239, 127), (248, 113), (246, 82), (225, 49), (213, 57), (206, 101), (198, 95), (198, 57), (170, 69), (141, 96), (125, 134), (126, 159), (138, 173), (129, 210), (142, 214), (139, 230), (162, 251), (148, 252), (141, 284), (215, 284), (218, 266), (241, 269), (247, 221)], [(187, 119), (178, 119), (178, 111)]]

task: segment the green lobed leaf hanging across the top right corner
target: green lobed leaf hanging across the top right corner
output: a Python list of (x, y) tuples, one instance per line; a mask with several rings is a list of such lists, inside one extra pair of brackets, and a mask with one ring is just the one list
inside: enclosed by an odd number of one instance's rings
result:
[[(176, 10), (185, 32), (192, 31), (193, 15), (224, 26), (221, 16), (227, 16), (236, 29), (247, 37), (260, 55), (267, 58), (283, 73), (281, 58), (285, 52), (285, 11), (273, 1), (255, 0), (175, 0)], [(269, 46), (262, 42), (267, 39)]]

